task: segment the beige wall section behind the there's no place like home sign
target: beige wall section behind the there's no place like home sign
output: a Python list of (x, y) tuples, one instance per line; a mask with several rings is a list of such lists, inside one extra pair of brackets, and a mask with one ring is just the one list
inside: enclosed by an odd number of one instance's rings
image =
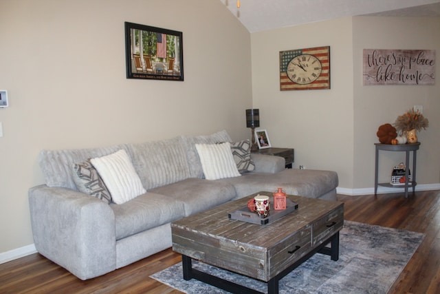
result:
[[(377, 128), (394, 123), (414, 105), (423, 105), (430, 127), (418, 133), (417, 183), (440, 182), (440, 18), (355, 17), (353, 19), (355, 165), (353, 187), (374, 182), (374, 147)], [(436, 50), (435, 85), (362, 85), (363, 49)], [(389, 181), (391, 168), (404, 162), (404, 152), (380, 151), (380, 182)], [(412, 166), (412, 165), (411, 165)]]

